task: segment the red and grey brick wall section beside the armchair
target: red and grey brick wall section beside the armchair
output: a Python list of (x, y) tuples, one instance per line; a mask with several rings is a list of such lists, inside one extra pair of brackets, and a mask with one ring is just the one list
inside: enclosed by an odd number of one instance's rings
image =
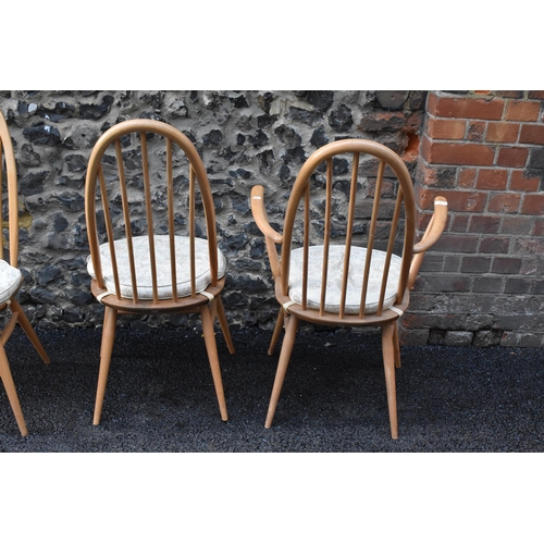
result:
[(420, 228), (449, 202), (404, 319), (408, 344), (544, 345), (544, 91), (429, 91)]

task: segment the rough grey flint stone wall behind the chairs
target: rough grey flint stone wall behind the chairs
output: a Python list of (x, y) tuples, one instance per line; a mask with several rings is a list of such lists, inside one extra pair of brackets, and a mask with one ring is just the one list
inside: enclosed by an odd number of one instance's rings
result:
[[(39, 327), (101, 324), (102, 307), (90, 295), (85, 268), (87, 160), (110, 126), (149, 118), (185, 133), (208, 169), (228, 261), (224, 306), (231, 326), (271, 327), (277, 304), (249, 208), (251, 187), (265, 186), (270, 219), (281, 225), (288, 190), (313, 150), (337, 138), (368, 137), (403, 154), (420, 131), (425, 97), (366, 90), (0, 91), (20, 183), (21, 304)], [(407, 160), (413, 173), (413, 157)], [(187, 320), (122, 318), (133, 327)]]

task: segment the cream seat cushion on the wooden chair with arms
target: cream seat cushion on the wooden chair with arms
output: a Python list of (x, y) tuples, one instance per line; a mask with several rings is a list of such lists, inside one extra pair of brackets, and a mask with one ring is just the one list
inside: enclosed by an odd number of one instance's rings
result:
[[(301, 304), (302, 301), (302, 248), (298, 248), (294, 249), (290, 254), (289, 298), (296, 304)], [(331, 313), (339, 312), (344, 254), (345, 246), (329, 247), (325, 311)], [(372, 250), (364, 313), (375, 313), (378, 310), (385, 257), (385, 251)], [(359, 313), (366, 259), (367, 248), (351, 246), (346, 306), (344, 310), (346, 313)], [(384, 310), (391, 308), (395, 302), (401, 262), (403, 259), (400, 257), (392, 255), (383, 301)], [(323, 246), (311, 246), (308, 257), (307, 306), (313, 309), (320, 308), (322, 264)]]

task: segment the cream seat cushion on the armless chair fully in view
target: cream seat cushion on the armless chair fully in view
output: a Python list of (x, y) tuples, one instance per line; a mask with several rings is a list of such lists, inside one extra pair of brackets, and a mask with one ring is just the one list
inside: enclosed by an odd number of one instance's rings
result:
[[(177, 296), (186, 297), (190, 295), (190, 254), (189, 238), (185, 236), (174, 236), (175, 238), (175, 260), (176, 260), (176, 287)], [(115, 256), (118, 261), (119, 282), (121, 297), (133, 298), (133, 286), (131, 280), (131, 268), (128, 260), (128, 248), (126, 238), (114, 242)], [(149, 259), (149, 239), (147, 236), (133, 238), (134, 260), (136, 267), (136, 283), (138, 298), (152, 300), (153, 290), (151, 282), (151, 265)], [(170, 237), (166, 235), (154, 236), (154, 252), (157, 263), (157, 284), (159, 299), (172, 298), (172, 273), (170, 264)], [(108, 243), (100, 246), (100, 259), (106, 288), (115, 294), (115, 283), (111, 264), (110, 248)], [(195, 238), (195, 267), (196, 267), (196, 290), (206, 290), (211, 282), (211, 272), (208, 256), (208, 240)], [(218, 248), (218, 277), (223, 277), (226, 270), (226, 260)], [(90, 256), (87, 258), (87, 271), (96, 280), (95, 270)]]

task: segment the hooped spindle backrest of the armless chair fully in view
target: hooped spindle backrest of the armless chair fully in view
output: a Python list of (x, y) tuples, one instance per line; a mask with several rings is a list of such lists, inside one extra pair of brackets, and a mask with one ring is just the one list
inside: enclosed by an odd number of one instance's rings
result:
[[(171, 256), (172, 251), (174, 251), (174, 238), (173, 238), (173, 227), (174, 227), (174, 215), (173, 215), (173, 175), (172, 175), (172, 145), (176, 145), (183, 152), (185, 153), (187, 160), (188, 160), (188, 169), (189, 169), (189, 186), (190, 186), (190, 194), (191, 196), (189, 197), (189, 205), (191, 207), (191, 210), (189, 211), (189, 221), (194, 222), (195, 220), (195, 212), (194, 212), (194, 207), (195, 207), (195, 197), (193, 195), (194, 193), (194, 185), (195, 185), (195, 180), (198, 183), (199, 191), (200, 191), (200, 197), (201, 197), (201, 203), (203, 206), (205, 210), (205, 221), (206, 221), (206, 231), (207, 231), (207, 238), (208, 238), (208, 250), (209, 250), (209, 262), (210, 262), (210, 271), (211, 271), (211, 285), (214, 286), (218, 283), (218, 246), (217, 246), (217, 231), (215, 231), (215, 211), (214, 211), (214, 203), (213, 203), (213, 197), (211, 194), (210, 189), (210, 184), (208, 180), (208, 175), (206, 173), (206, 169), (203, 166), (203, 163), (200, 159), (200, 156), (198, 154), (198, 151), (196, 150), (195, 146), (193, 143), (185, 136), (181, 131), (175, 128), (172, 125), (169, 125), (166, 123), (163, 123), (161, 121), (156, 121), (156, 120), (147, 120), (147, 119), (136, 119), (136, 120), (128, 120), (128, 121), (123, 121), (111, 128), (109, 128), (96, 143), (92, 152), (89, 158), (89, 163), (88, 163), (88, 169), (87, 169), (87, 176), (86, 176), (86, 186), (85, 186), (85, 214), (86, 214), (86, 221), (87, 221), (87, 232), (88, 232), (88, 238), (89, 238), (89, 249), (90, 249), (90, 257), (92, 260), (92, 268), (96, 273), (96, 280), (98, 287), (103, 289), (104, 288), (104, 283), (103, 283), (103, 276), (101, 272), (101, 262), (100, 262), (100, 251), (99, 251), (99, 238), (98, 238), (98, 230), (97, 230), (97, 217), (96, 217), (96, 190), (97, 190), (97, 181), (100, 185), (100, 193), (102, 195), (102, 198), (104, 197), (106, 193), (106, 181), (103, 177), (102, 173), (102, 157), (104, 156), (106, 151), (108, 148), (114, 144), (115, 145), (115, 156), (118, 158), (118, 163), (120, 164), (120, 170), (119, 170), (119, 178), (120, 178), (120, 185), (121, 185), (121, 198), (123, 202), (123, 213), (125, 214), (124, 217), (124, 222), (125, 222), (125, 228), (127, 233), (127, 245), (129, 246), (128, 251), (132, 255), (132, 234), (131, 234), (131, 224), (128, 221), (128, 211), (127, 211), (127, 205), (126, 205), (126, 182), (124, 181), (124, 174), (122, 170), (122, 152), (121, 152), (121, 145), (120, 145), (120, 138), (127, 134), (132, 133), (137, 133), (139, 134), (140, 137), (140, 149), (141, 149), (141, 160), (143, 160), (143, 173), (144, 173), (144, 190), (146, 193), (145, 195), (145, 200), (146, 200), (146, 217), (148, 221), (148, 239), (149, 239), (149, 246), (150, 246), (150, 254), (151, 254), (151, 274), (153, 276), (153, 301), (158, 301), (158, 295), (157, 295), (157, 270), (156, 270), (156, 264), (154, 264), (154, 242), (153, 242), (153, 224), (152, 224), (152, 209), (151, 209), (151, 195), (150, 195), (150, 172), (148, 171), (148, 157), (147, 157), (147, 143), (146, 143), (146, 134), (152, 133), (152, 134), (158, 134), (160, 136), (163, 136), (165, 139), (165, 157), (166, 157), (166, 190), (168, 190), (168, 201), (169, 201), (169, 211), (168, 211), (168, 225), (169, 225), (169, 232), (170, 232), (170, 250), (171, 250)], [(104, 210), (104, 217), (108, 213), (108, 202), (103, 201), (102, 207)], [(110, 218), (106, 217), (106, 223), (107, 227), (108, 225), (111, 225)], [(111, 228), (111, 226), (110, 226)], [(190, 231), (190, 256), (191, 256), (191, 294), (193, 296), (195, 295), (195, 267), (194, 267), (194, 260), (195, 260), (195, 250), (194, 250), (194, 236), (195, 236), (195, 228), (194, 224), (189, 225), (189, 231)], [(108, 232), (108, 240), (110, 243), (110, 255), (112, 257), (112, 261), (115, 261), (115, 251), (113, 249), (113, 232)], [(171, 259), (174, 261), (174, 259)], [(115, 268), (115, 262), (113, 262), (113, 267)], [(132, 272), (132, 279), (133, 279), (133, 293), (134, 293), (134, 301), (136, 302), (138, 299), (137, 295), (137, 288), (135, 285), (135, 273), (134, 273), (134, 262), (133, 259), (131, 258), (131, 272)], [(176, 277), (175, 277), (175, 265), (172, 262), (172, 293), (173, 293), (173, 298), (174, 300), (177, 299), (177, 292), (175, 288), (176, 284)], [(114, 274), (115, 276), (115, 290), (118, 298), (120, 297), (120, 288), (119, 288), (119, 283), (116, 279), (116, 273)]]

